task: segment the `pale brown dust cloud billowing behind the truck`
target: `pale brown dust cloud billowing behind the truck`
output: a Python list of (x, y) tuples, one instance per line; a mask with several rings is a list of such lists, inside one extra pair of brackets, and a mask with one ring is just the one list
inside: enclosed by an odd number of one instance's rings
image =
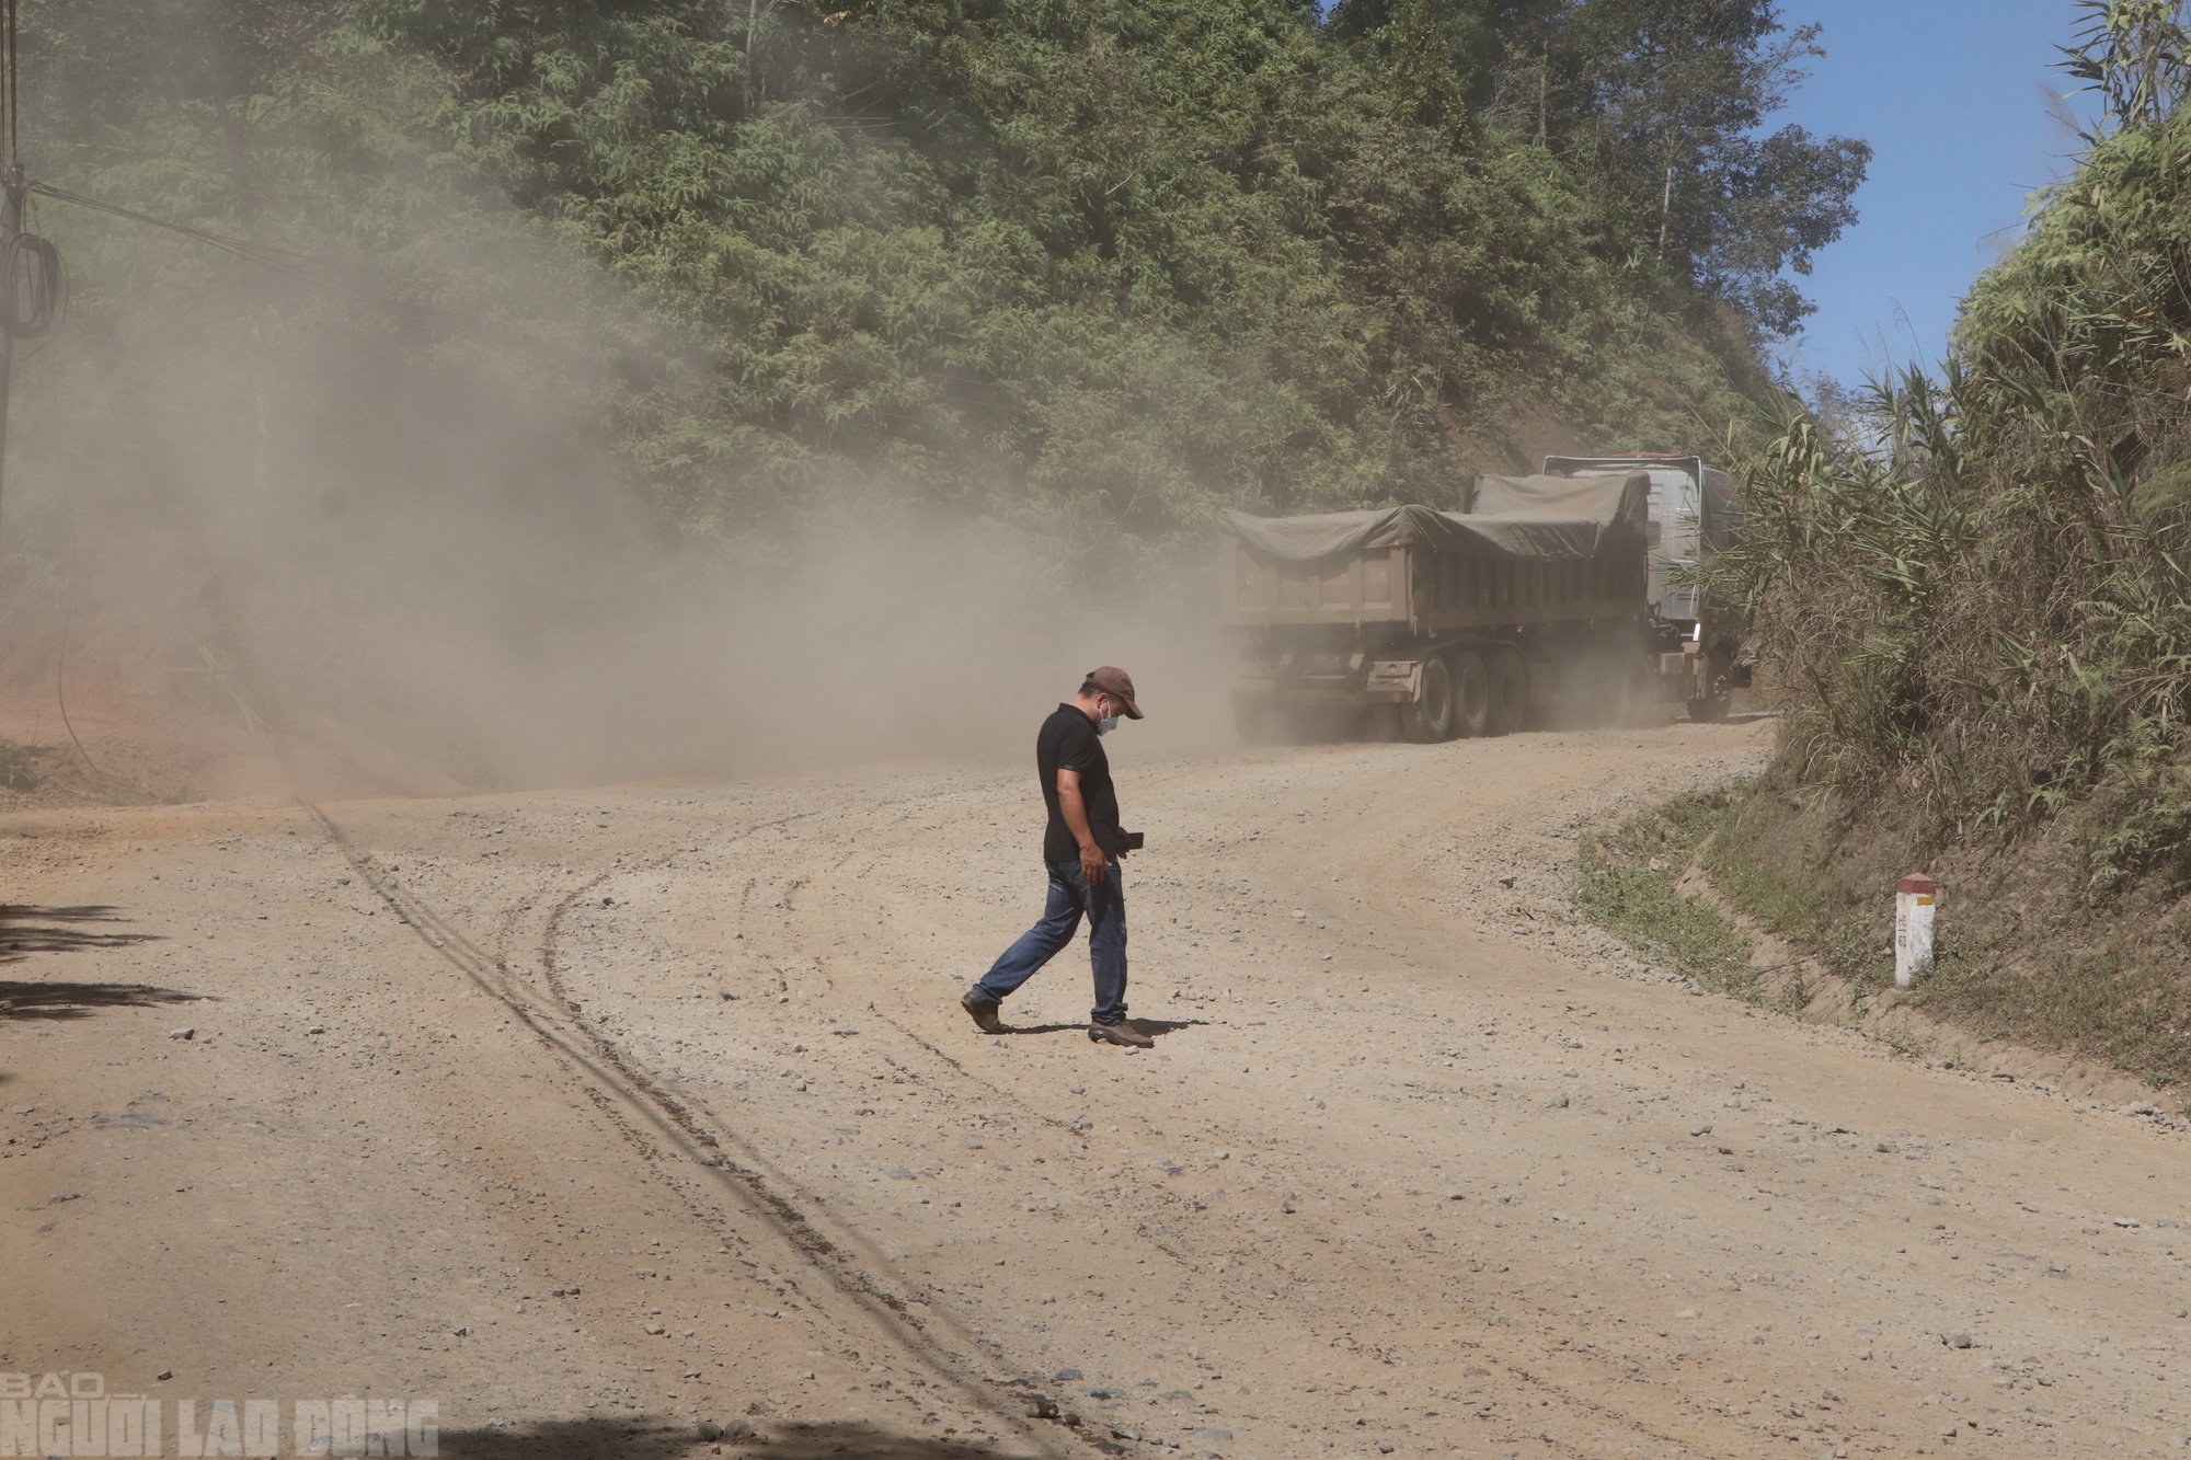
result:
[(64, 743), (66, 691), (92, 756), (186, 794), (712, 778), (1025, 754), (1098, 662), (1137, 677), (1137, 752), (1227, 734), (1207, 559), (1137, 592), (1124, 552), (1067, 570), (826, 478), (677, 537), (607, 447), (605, 342), (679, 342), (581, 265), (473, 248), (423, 322), (248, 267), (153, 309), (79, 272), (18, 368), (0, 734)]

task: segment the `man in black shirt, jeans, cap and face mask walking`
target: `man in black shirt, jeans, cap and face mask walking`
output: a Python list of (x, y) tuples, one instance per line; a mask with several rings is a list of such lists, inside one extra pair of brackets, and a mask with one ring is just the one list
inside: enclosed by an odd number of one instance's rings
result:
[(997, 1019), (1003, 997), (1071, 943), (1087, 916), (1089, 962), (1096, 965), (1089, 1039), (1137, 1050), (1157, 1043), (1126, 1017), (1126, 890), (1117, 872), (1126, 833), (1117, 824), (1111, 756), (1100, 739), (1117, 728), (1120, 715), (1142, 719), (1142, 706), (1133, 702), (1133, 677), (1104, 664), (1089, 671), (1080, 693), (1060, 704), (1034, 737), (1034, 767), (1049, 807), (1049, 829), (1043, 831), (1049, 903), (1043, 921), (1003, 949), (982, 982), (960, 1000), (988, 1035), (1003, 1033)]

